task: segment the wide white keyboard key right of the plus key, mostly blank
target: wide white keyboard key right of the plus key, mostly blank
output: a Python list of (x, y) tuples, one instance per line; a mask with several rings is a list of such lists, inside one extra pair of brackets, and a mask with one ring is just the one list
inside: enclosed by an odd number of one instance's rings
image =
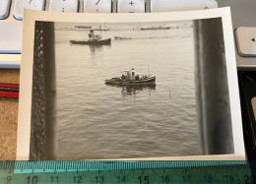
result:
[(215, 0), (151, 0), (151, 12), (218, 8)]

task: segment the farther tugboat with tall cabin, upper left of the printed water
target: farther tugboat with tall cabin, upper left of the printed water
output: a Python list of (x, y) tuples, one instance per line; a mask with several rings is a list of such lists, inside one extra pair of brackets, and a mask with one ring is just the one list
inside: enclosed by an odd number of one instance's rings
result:
[(94, 30), (89, 33), (88, 40), (70, 40), (72, 44), (85, 44), (85, 45), (110, 45), (111, 38), (102, 39), (99, 34), (95, 34)]

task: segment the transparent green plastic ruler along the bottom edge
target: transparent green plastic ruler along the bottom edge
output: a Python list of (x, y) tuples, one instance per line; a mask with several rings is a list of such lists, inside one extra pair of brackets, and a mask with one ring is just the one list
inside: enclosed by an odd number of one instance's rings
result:
[(253, 183), (246, 161), (0, 161), (0, 183)]

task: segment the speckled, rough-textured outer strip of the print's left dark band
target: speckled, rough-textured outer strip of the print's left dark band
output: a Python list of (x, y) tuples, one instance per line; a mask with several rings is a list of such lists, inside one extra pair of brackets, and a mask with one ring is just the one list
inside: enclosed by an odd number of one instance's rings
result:
[(34, 28), (32, 71), (32, 135), (30, 159), (45, 156), (45, 67), (43, 60), (43, 23), (36, 22)]

